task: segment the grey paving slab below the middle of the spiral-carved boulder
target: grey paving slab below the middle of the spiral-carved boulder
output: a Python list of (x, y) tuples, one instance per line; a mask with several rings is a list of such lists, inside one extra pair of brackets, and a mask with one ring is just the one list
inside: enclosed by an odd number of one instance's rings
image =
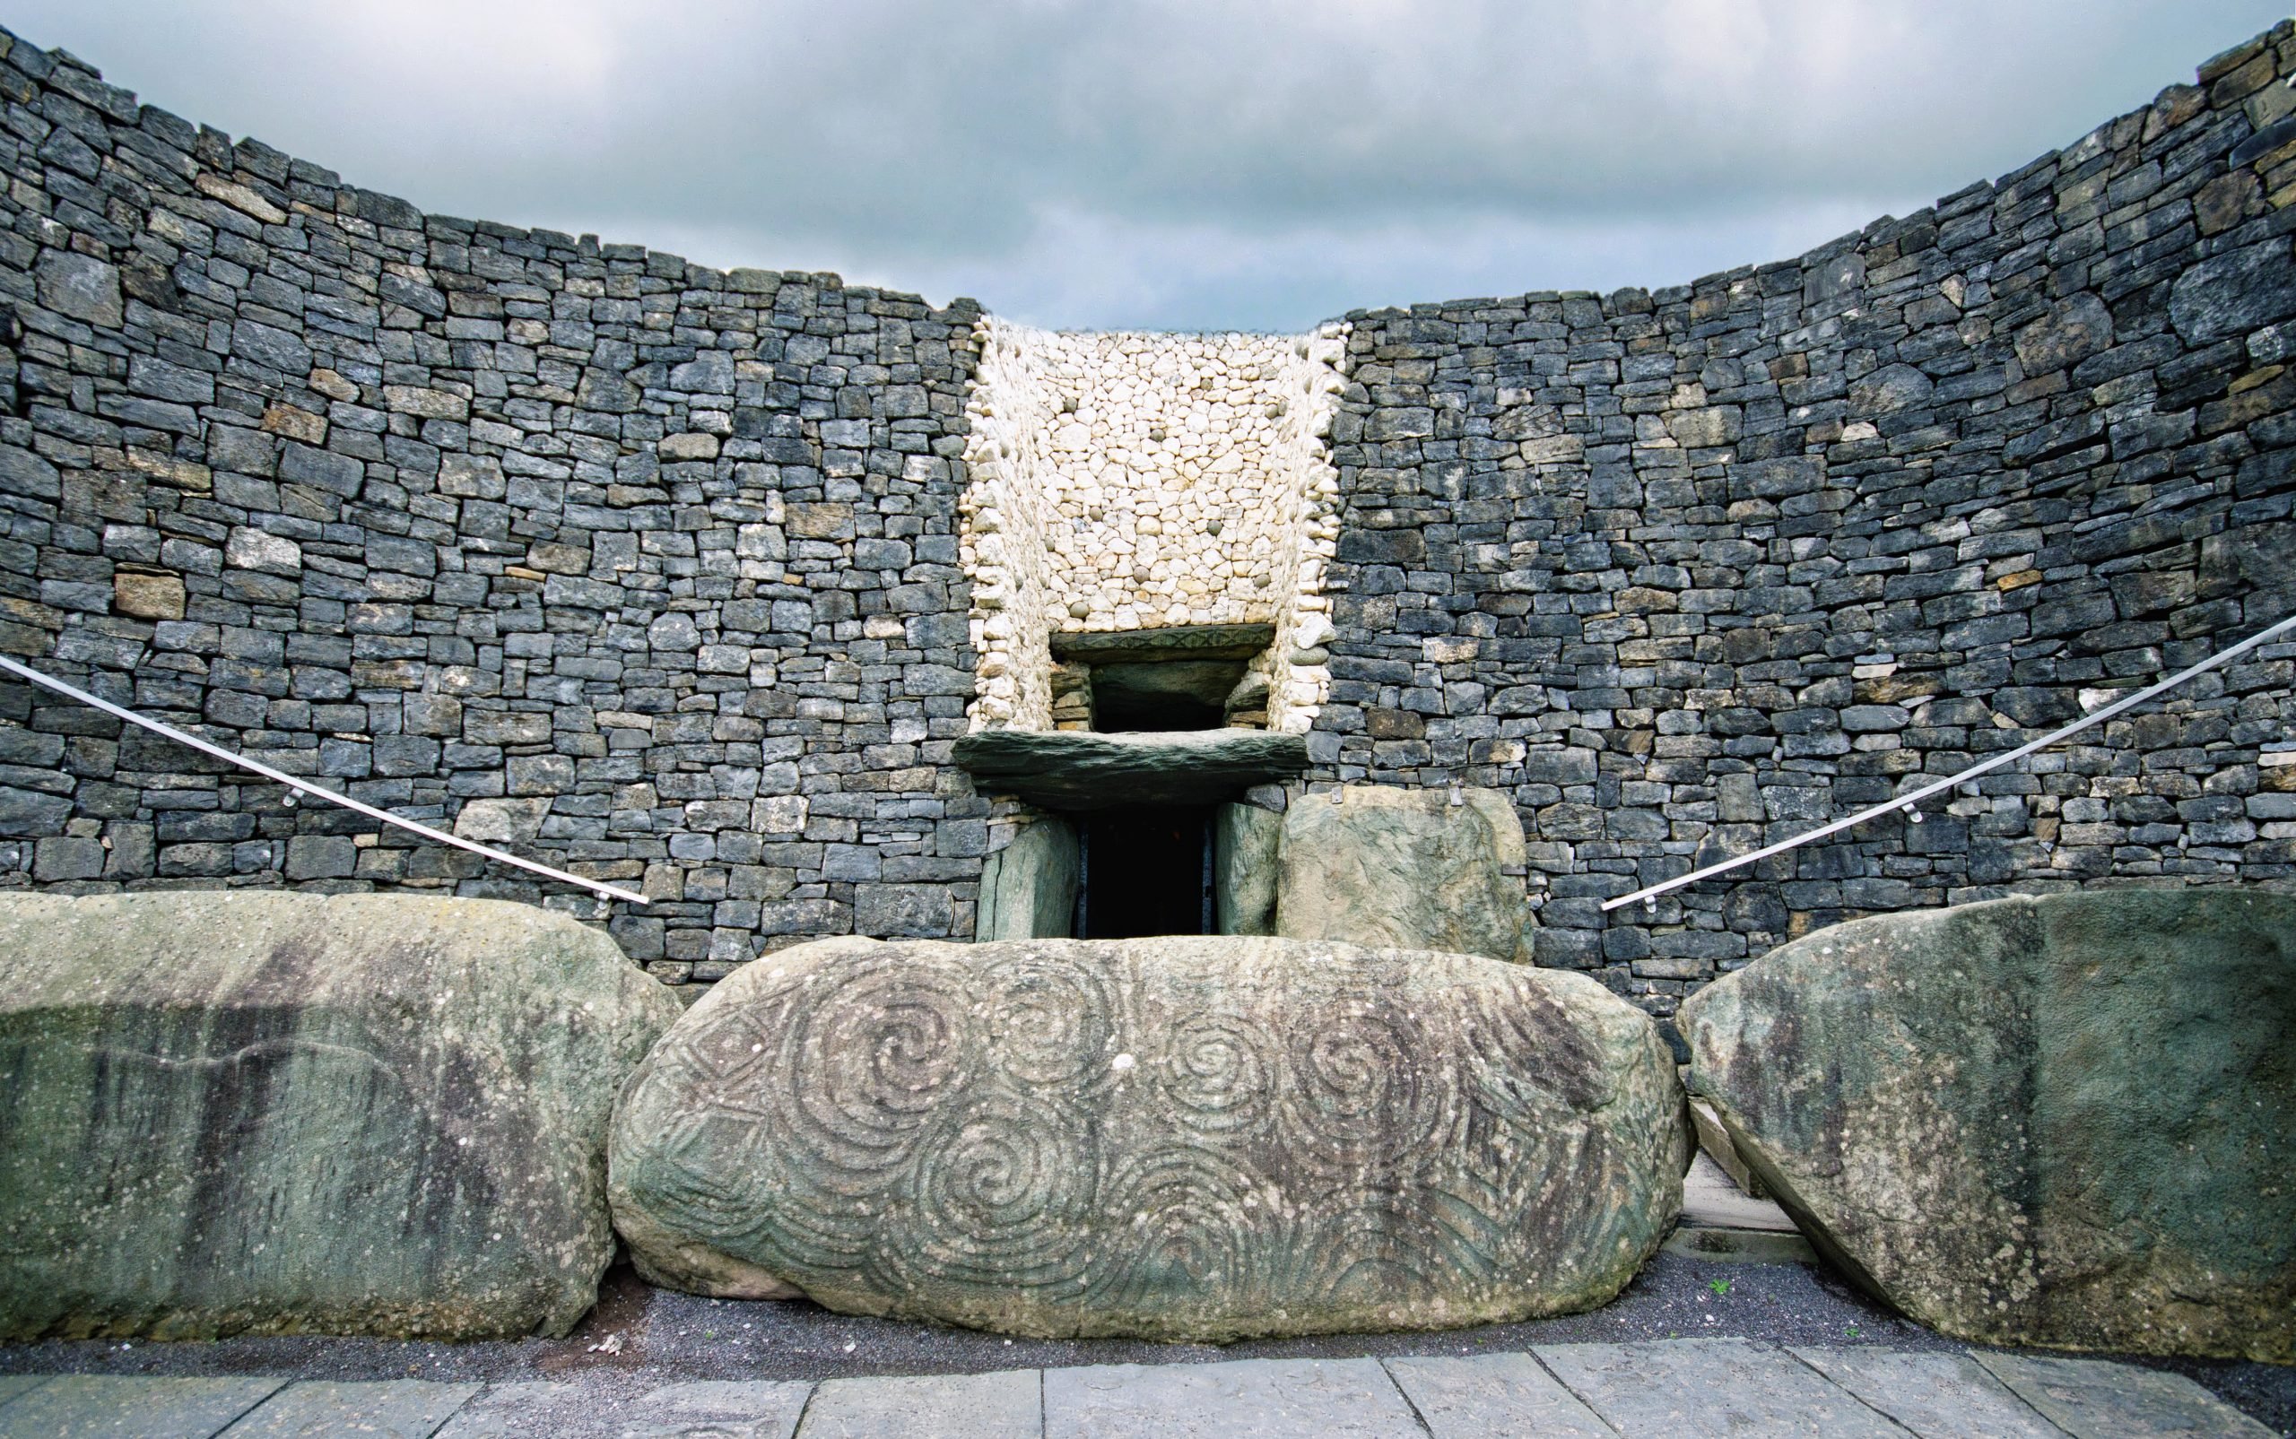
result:
[(1394, 1439), (1417, 1432), (1419, 1421), (1375, 1359), (1045, 1370), (1045, 1439)]

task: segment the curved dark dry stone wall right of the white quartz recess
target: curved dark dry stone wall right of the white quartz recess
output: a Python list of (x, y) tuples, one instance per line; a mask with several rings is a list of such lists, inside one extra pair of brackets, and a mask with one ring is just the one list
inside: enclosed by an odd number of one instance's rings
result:
[(1660, 1014), (1818, 925), (2296, 877), (2296, 32), (1784, 264), (1350, 317), (1325, 778), (1511, 789), (1538, 959)]

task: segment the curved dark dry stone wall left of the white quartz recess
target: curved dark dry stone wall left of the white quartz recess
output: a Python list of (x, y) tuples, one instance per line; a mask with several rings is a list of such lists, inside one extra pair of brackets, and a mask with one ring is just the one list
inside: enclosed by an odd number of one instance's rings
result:
[[(425, 216), (9, 37), (0, 99), (0, 650), (643, 886), (668, 980), (971, 932), (971, 303)], [(0, 874), (544, 900), (23, 684)]]

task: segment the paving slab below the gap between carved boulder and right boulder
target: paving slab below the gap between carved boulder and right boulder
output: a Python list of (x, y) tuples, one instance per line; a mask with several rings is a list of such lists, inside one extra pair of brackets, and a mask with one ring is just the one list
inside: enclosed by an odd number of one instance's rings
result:
[(1626, 1434), (1906, 1439), (1793, 1354), (1736, 1338), (1538, 1345), (1557, 1379)]

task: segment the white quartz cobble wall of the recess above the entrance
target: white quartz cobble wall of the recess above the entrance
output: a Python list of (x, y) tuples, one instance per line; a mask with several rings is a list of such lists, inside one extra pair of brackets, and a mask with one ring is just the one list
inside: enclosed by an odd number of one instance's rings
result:
[(1306, 730), (1329, 686), (1345, 330), (983, 330), (964, 498), (974, 728), (1049, 725), (1054, 631), (1272, 622), (1267, 721)]

